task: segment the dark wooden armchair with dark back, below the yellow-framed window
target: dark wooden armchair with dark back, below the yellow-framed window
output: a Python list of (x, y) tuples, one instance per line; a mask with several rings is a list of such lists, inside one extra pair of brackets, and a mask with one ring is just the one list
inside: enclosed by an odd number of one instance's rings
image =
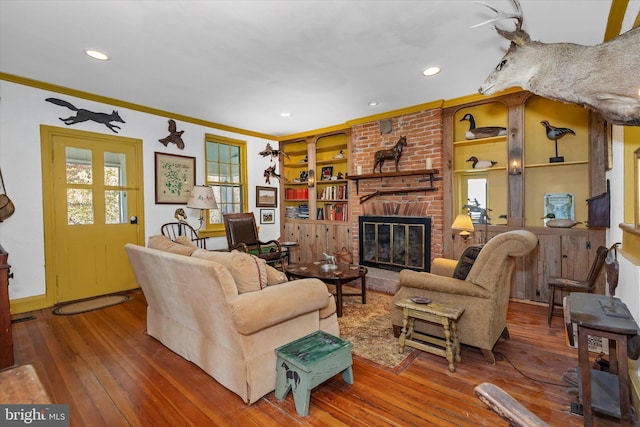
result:
[(283, 253), (278, 240), (260, 241), (253, 212), (224, 214), (224, 229), (229, 250), (237, 249), (282, 266)]

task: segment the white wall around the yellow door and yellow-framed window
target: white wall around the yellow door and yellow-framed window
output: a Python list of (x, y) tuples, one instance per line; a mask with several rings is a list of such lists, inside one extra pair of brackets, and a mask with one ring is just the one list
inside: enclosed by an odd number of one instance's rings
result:
[[(196, 157), (196, 183), (204, 183), (204, 135), (205, 133), (247, 141), (249, 171), (249, 210), (256, 213), (256, 186), (278, 186), (278, 180), (266, 184), (263, 171), (269, 159), (258, 155), (268, 140), (235, 134), (214, 128), (178, 121), (178, 130), (184, 130), (184, 150), (174, 144), (165, 147), (158, 139), (168, 135), (167, 120), (171, 117), (154, 116), (139, 111), (117, 108), (111, 105), (87, 101), (54, 92), (0, 80), (0, 168), (7, 195), (16, 206), (16, 212), (0, 223), (0, 244), (9, 252), (9, 264), (14, 278), (9, 286), (11, 299), (25, 298), (45, 293), (44, 235), (42, 211), (42, 171), (40, 153), (40, 125), (66, 127), (58, 118), (69, 117), (73, 111), (45, 99), (55, 97), (69, 101), (78, 108), (95, 112), (111, 112), (116, 109), (125, 124), (118, 135), (143, 141), (144, 162), (144, 210), (145, 239), (160, 233), (160, 226), (174, 219), (178, 205), (156, 205), (154, 184), (154, 152)], [(154, 107), (154, 106), (149, 106)], [(179, 112), (177, 112), (179, 113)], [(215, 117), (199, 117), (215, 122)], [(102, 124), (84, 122), (70, 126), (72, 129), (115, 135)], [(274, 143), (272, 142), (272, 145)], [(184, 206), (183, 206), (184, 207)], [(187, 219), (197, 227), (198, 210), (186, 209)], [(280, 236), (279, 215), (276, 223), (260, 226), (262, 240)], [(210, 238), (208, 249), (226, 248), (224, 237)]]

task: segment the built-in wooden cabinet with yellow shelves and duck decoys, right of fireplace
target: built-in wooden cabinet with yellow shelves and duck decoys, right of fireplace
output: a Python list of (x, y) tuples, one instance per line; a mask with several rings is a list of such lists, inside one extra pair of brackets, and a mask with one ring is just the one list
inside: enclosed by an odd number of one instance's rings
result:
[[(506, 135), (466, 139), (469, 122), (461, 120), (466, 114), (474, 116), (476, 127), (502, 126)], [(558, 156), (563, 156), (564, 162), (550, 161), (556, 156), (555, 143), (547, 138), (540, 123), (543, 120), (575, 132), (557, 142)], [(458, 213), (467, 212), (463, 207), (470, 203), (469, 186), (484, 184), (490, 225), (476, 224), (471, 243), (484, 243), (486, 238), (511, 229), (528, 229), (538, 237), (538, 248), (518, 260), (513, 298), (546, 302), (549, 276), (584, 278), (596, 249), (605, 244), (605, 229), (586, 225), (586, 199), (606, 191), (606, 122), (585, 108), (528, 92), (449, 106), (444, 109), (443, 122), (443, 187), (445, 194), (454, 195), (444, 207), (445, 230)], [(473, 168), (467, 162), (471, 157), (497, 163)], [(571, 194), (574, 218), (580, 224), (569, 229), (546, 227), (546, 194)], [(462, 250), (461, 239), (445, 239), (447, 258), (458, 258)], [(604, 291), (604, 279), (597, 290)]]

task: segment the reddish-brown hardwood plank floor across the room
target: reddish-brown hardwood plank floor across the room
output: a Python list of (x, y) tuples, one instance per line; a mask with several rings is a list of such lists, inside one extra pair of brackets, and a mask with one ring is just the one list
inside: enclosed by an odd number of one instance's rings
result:
[[(463, 347), (456, 372), (446, 360), (421, 353), (402, 372), (354, 356), (355, 384), (337, 375), (311, 394), (307, 417), (291, 394), (270, 393), (254, 405), (166, 349), (145, 330), (141, 292), (129, 302), (74, 316), (41, 310), (14, 316), (16, 362), (32, 364), (55, 403), (68, 403), (72, 426), (495, 426), (506, 425), (473, 394), (492, 382), (550, 425), (578, 426), (569, 414), (565, 370), (577, 350), (565, 345), (560, 317), (547, 327), (546, 307), (512, 302), (511, 340), (495, 350), (495, 366)], [(517, 367), (514, 368), (513, 365)], [(596, 416), (594, 425), (618, 425)]]

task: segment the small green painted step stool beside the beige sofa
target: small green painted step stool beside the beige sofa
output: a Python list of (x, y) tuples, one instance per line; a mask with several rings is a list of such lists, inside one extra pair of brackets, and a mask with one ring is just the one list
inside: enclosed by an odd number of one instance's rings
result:
[(276, 348), (276, 397), (283, 400), (293, 390), (296, 411), (306, 417), (311, 389), (339, 372), (353, 384), (352, 347), (349, 341), (316, 331)]

